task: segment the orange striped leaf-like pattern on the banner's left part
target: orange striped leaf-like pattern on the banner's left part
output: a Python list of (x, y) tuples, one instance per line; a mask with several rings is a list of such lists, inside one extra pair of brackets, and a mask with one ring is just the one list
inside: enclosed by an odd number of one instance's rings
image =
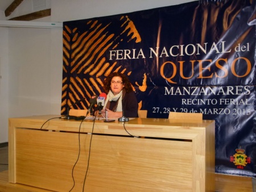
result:
[[(109, 28), (112, 22), (103, 24), (98, 20), (86, 20), (82, 23), (85, 31), (80, 31), (79, 26), (63, 27), (63, 86), (62, 86), (62, 103), (61, 114), (70, 108), (84, 109), (89, 106), (89, 99), (92, 95), (102, 93), (104, 78), (113, 72), (125, 73), (130, 76), (131, 69), (127, 69), (115, 62), (106, 59), (106, 51), (117, 49), (121, 41), (141, 42), (134, 23), (128, 16), (121, 16), (118, 21), (120, 31), (110, 32)], [(115, 23), (116, 24), (116, 23)], [(144, 83), (139, 86), (141, 91), (146, 89), (146, 75)], [(135, 89), (134, 89), (135, 90)], [(72, 106), (72, 103), (85, 99), (85, 103)]]

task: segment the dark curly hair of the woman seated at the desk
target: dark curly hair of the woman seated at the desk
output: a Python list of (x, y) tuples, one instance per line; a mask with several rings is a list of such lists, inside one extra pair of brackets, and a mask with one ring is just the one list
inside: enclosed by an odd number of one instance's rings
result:
[(124, 85), (123, 89), (126, 90), (126, 93), (133, 91), (133, 87), (131, 86), (131, 82), (130, 82), (129, 78), (127, 76), (125, 76), (125, 74), (114, 72), (114, 73), (111, 73), (104, 81), (103, 88), (106, 91), (106, 93), (109, 93), (111, 80), (113, 77), (121, 77), (122, 78), (122, 82)]

